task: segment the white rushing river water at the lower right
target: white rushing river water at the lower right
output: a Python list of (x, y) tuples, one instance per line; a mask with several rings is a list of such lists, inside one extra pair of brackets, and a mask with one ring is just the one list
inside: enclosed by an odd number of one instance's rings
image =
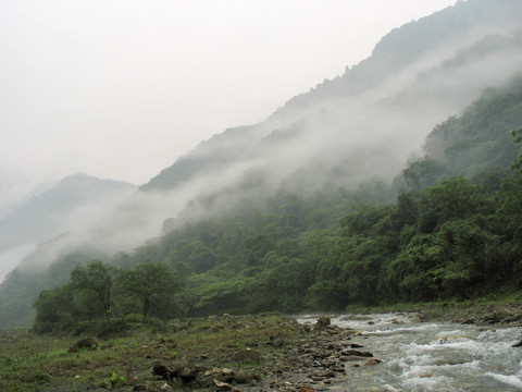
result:
[[(301, 319), (313, 322), (313, 319)], [(328, 390), (522, 391), (521, 329), (418, 322), (408, 315), (344, 316), (332, 323), (361, 334), (350, 343), (383, 362), (352, 367)]]

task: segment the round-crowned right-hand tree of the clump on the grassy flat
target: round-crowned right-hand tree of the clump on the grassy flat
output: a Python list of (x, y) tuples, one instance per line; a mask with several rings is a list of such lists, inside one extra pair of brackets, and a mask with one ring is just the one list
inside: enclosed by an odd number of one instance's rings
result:
[(132, 270), (123, 270), (119, 281), (124, 290), (140, 301), (145, 318), (149, 315), (151, 305), (164, 302), (178, 290), (173, 272), (162, 262), (139, 264)]

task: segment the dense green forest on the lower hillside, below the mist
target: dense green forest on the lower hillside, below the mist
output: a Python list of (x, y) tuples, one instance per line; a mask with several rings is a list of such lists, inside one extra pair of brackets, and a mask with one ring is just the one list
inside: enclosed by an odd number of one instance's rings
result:
[[(279, 192), (261, 208), (245, 200), (220, 219), (174, 230), (165, 222), (163, 236), (117, 255), (111, 268), (169, 266), (179, 292), (169, 302), (151, 296), (150, 315), (162, 318), (173, 309), (340, 310), (518, 291), (522, 173), (511, 163), (522, 155), (522, 131), (511, 131), (522, 128), (521, 108), (521, 89), (489, 91), (437, 125), (425, 145), (434, 156), (410, 162), (395, 185), (370, 181), (306, 197)], [(462, 145), (469, 152), (456, 158)], [(74, 262), (61, 265), (65, 272)], [(54, 296), (64, 287), (40, 295), (40, 317), (49, 311), (46, 298), (54, 301), (52, 311), (66, 311)], [(111, 313), (128, 309), (139, 308), (114, 298)]]

